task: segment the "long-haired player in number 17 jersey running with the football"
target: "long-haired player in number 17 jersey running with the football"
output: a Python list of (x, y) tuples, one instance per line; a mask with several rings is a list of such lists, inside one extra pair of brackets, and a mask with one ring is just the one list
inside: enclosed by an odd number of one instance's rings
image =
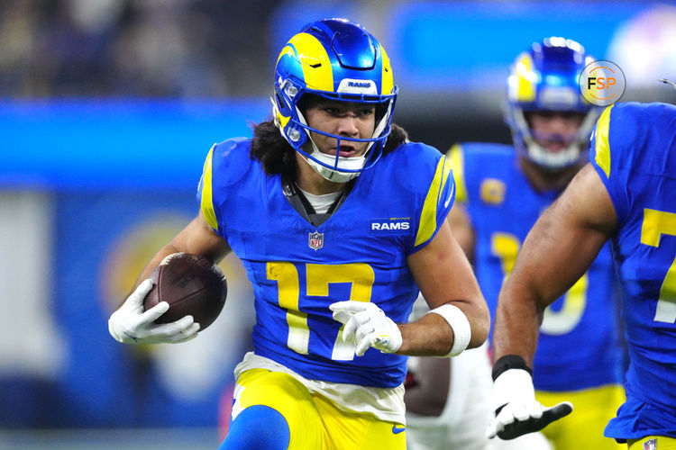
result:
[[(254, 352), (235, 369), (221, 448), (403, 449), (405, 355), (486, 339), (488, 308), (446, 221), (450, 163), (390, 123), (396, 98), (388, 56), (360, 25), (306, 25), (279, 54), (273, 120), (211, 149), (199, 214), (142, 271), (231, 249), (246, 268)], [(432, 311), (407, 324), (418, 288)], [(115, 312), (114, 338), (195, 336), (189, 316), (153, 325), (156, 308)]]

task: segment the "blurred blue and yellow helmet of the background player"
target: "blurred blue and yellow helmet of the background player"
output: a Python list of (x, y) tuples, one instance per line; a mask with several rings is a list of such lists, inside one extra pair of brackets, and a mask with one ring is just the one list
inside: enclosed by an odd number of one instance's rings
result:
[[(582, 98), (578, 79), (593, 60), (578, 42), (556, 37), (534, 42), (516, 58), (507, 78), (505, 121), (516, 150), (536, 165), (556, 171), (585, 157), (600, 110)], [(566, 137), (567, 148), (554, 152), (535, 139), (525, 115), (531, 111), (580, 112), (583, 119), (576, 135)]]

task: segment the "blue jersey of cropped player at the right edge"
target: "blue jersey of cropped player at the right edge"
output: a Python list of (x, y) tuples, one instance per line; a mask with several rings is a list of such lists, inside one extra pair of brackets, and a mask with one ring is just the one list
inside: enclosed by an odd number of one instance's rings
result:
[(627, 402), (606, 434), (676, 437), (676, 107), (608, 107), (590, 160), (617, 212), (612, 249), (629, 348)]

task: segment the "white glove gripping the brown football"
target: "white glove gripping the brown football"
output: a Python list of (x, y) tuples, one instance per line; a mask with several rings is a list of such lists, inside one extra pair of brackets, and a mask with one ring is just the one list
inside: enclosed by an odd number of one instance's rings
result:
[(153, 323), (169, 310), (169, 303), (160, 302), (148, 311), (143, 311), (143, 299), (151, 292), (152, 281), (145, 280), (130, 295), (123, 305), (110, 316), (108, 331), (123, 344), (176, 344), (196, 338), (199, 324), (192, 316), (175, 322)]

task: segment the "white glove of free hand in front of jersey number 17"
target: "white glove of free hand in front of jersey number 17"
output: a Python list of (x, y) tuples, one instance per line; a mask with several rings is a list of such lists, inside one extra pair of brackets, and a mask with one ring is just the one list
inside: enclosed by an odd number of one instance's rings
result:
[(394, 353), (401, 347), (401, 331), (375, 303), (335, 302), (329, 306), (333, 319), (345, 325), (343, 340), (354, 342), (355, 353), (363, 356), (369, 347)]

